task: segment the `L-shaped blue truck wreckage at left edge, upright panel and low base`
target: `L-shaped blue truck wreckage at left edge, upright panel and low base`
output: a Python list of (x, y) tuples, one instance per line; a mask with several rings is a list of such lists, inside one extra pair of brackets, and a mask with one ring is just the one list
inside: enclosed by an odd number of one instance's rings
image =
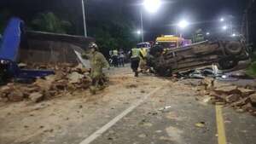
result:
[(17, 59), (22, 41), (26, 41), (24, 22), (19, 18), (12, 18), (3, 32), (2, 44), (0, 45), (1, 79), (6, 79), (5, 76), (15, 79), (33, 79), (54, 74), (53, 71), (20, 69), (17, 65)]

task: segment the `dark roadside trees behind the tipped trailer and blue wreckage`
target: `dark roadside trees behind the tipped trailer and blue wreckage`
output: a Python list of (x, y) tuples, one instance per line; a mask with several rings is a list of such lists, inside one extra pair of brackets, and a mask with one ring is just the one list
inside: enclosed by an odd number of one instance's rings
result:
[[(46, 11), (32, 14), (25, 19), (26, 29), (32, 31), (54, 32), (71, 35), (84, 35), (84, 27), (77, 26), (70, 16), (61, 17), (60, 14)], [(124, 49), (128, 51), (136, 45), (139, 37), (135, 35), (136, 26), (133, 20), (125, 20), (122, 14), (112, 14), (114, 19), (95, 19), (92, 15), (87, 20), (88, 35), (96, 39), (102, 53), (108, 55), (109, 50)], [(14, 17), (9, 10), (0, 10), (0, 34), (10, 18)], [(108, 18), (108, 15), (106, 15)], [(24, 20), (22, 17), (20, 17)], [(79, 32), (77, 31), (79, 29)]]

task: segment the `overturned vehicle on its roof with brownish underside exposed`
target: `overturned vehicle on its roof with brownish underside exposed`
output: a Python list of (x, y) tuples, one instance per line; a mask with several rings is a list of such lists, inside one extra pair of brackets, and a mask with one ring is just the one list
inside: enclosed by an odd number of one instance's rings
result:
[(150, 66), (156, 74), (164, 77), (171, 76), (173, 72), (212, 64), (220, 70), (232, 71), (239, 67), (241, 61), (249, 61), (247, 46), (241, 37), (222, 37), (221, 40), (203, 41), (175, 49), (154, 45), (150, 55)]

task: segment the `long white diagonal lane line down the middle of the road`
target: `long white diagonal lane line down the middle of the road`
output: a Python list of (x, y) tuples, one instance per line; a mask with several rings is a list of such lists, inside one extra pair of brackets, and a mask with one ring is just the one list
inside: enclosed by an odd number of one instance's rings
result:
[(104, 126), (102, 126), (101, 129), (96, 130), (96, 132), (94, 132), (93, 134), (91, 134), (89, 137), (87, 137), (86, 139), (84, 139), (84, 141), (80, 142), (80, 144), (90, 144), (90, 142), (96, 140), (97, 137), (99, 137), (100, 135), (102, 135), (105, 131), (107, 131), (109, 128), (111, 128), (114, 124), (116, 124), (117, 122), (119, 122), (120, 119), (124, 118), (128, 113), (132, 112), (136, 107), (140, 106), (145, 100), (148, 99), (148, 97), (150, 97), (151, 95), (153, 95), (155, 92), (157, 92), (158, 90), (160, 90), (161, 88), (156, 88), (154, 89), (152, 92), (150, 92), (148, 95), (145, 95), (143, 97), (143, 99), (141, 99), (140, 101), (137, 101), (135, 103), (133, 103), (131, 105), (131, 107), (127, 108), (124, 112), (121, 112), (118, 116), (116, 116), (115, 118), (113, 118), (110, 122), (108, 122), (108, 124), (105, 124)]

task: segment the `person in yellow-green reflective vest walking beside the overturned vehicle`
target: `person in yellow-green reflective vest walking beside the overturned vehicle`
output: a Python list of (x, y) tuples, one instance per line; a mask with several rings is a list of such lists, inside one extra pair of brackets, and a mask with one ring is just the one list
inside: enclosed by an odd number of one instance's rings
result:
[(137, 49), (137, 48), (131, 49), (130, 57), (131, 57), (131, 69), (135, 73), (135, 77), (138, 77), (137, 68), (140, 63), (140, 49)]

